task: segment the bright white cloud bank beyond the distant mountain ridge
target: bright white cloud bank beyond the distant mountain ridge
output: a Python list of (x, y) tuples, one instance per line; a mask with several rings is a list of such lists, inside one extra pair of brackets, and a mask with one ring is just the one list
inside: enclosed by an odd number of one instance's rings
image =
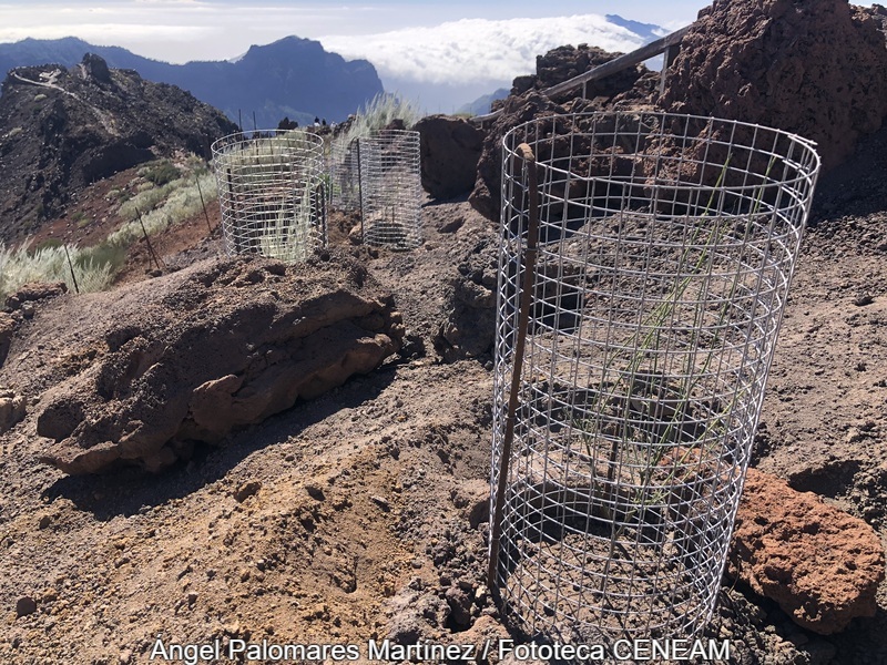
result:
[(631, 51), (642, 40), (598, 14), (502, 21), (466, 19), (434, 28), (408, 28), (361, 35), (322, 37), (327, 51), (365, 58), (383, 79), (422, 83), (511, 81), (536, 71), (536, 57), (564, 45), (588, 43), (605, 51)]

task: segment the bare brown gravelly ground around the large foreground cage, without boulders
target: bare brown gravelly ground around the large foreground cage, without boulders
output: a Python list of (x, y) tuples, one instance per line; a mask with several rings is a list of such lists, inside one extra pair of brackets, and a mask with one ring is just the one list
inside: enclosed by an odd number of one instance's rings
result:
[[(755, 464), (884, 540), (884, 133), (878, 141), (860, 155), (858, 177), (822, 183)], [(0, 438), (0, 662), (146, 663), (159, 637), (364, 646), (508, 637), (485, 586), (491, 358), (465, 358), (486, 344), (479, 287), (495, 274), (493, 227), (463, 201), (428, 203), (424, 221), (424, 245), (399, 254), (349, 247), (347, 217), (332, 228), (334, 244), (394, 295), (406, 326), (399, 354), (157, 475), (68, 477), (42, 463), (52, 442), (37, 433), (41, 400), (99, 361), (88, 330), (111, 327), (122, 304), (212, 269), (218, 238), (171, 241), (165, 262), (184, 272), (142, 279), (136, 252), (135, 284), (33, 305), (0, 370), (27, 408)], [(733, 641), (730, 663), (874, 665), (887, 662), (885, 631), (885, 584), (874, 618), (820, 636), (725, 580), (710, 635)]]

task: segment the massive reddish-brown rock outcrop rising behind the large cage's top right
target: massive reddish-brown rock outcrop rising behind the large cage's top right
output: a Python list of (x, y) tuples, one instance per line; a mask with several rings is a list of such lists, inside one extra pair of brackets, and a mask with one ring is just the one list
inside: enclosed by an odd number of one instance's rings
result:
[(887, 48), (847, 0), (716, 0), (683, 39), (660, 101), (816, 141), (825, 170), (887, 114)]

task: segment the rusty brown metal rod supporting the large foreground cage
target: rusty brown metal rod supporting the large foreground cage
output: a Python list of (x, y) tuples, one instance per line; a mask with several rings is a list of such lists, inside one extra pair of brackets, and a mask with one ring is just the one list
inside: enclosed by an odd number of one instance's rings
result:
[(514, 360), (513, 369), (511, 370), (511, 393), (508, 398), (506, 432), (502, 440), (502, 453), (499, 459), (499, 482), (496, 487), (496, 504), (493, 509), (492, 530), (490, 532), (490, 566), (487, 571), (487, 586), (492, 593), (498, 593), (497, 590), (499, 587), (496, 583), (496, 572), (499, 567), (499, 543), (502, 539), (502, 504), (506, 499), (508, 466), (511, 461), (511, 447), (514, 441), (514, 415), (518, 410), (518, 395), (520, 392), (523, 351), (527, 342), (527, 326), (529, 325), (530, 305), (533, 295), (539, 237), (539, 171), (536, 163), (536, 155), (533, 155), (532, 149), (526, 143), (521, 143), (518, 146), (517, 153), (523, 158), (527, 166), (530, 208), (527, 227), (527, 249), (523, 253), (523, 285), (521, 286)]

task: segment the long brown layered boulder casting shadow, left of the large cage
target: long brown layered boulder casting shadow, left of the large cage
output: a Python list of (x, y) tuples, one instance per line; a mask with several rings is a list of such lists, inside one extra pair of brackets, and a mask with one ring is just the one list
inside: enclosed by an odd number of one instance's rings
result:
[(343, 254), (225, 259), (153, 284), (150, 303), (109, 313), (106, 352), (43, 396), (43, 461), (162, 469), (375, 369), (404, 336), (391, 297)]

